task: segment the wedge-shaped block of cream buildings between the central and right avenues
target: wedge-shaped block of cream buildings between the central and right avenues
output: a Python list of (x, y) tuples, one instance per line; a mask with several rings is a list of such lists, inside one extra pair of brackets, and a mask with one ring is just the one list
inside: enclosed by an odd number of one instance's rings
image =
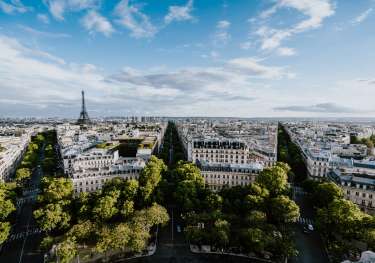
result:
[(275, 124), (198, 120), (180, 121), (177, 129), (188, 161), (212, 190), (248, 185), (277, 161)]

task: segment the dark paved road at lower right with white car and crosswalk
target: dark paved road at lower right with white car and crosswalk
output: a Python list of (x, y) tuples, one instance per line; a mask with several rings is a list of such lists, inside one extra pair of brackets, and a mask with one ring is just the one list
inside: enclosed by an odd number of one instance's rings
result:
[[(295, 240), (299, 255), (293, 258), (293, 263), (328, 263), (323, 242), (317, 231), (303, 233), (306, 223), (313, 223), (314, 209), (308, 196), (300, 189), (295, 189), (294, 200), (300, 207), (301, 217), (294, 226)], [(314, 225), (314, 224), (313, 224)], [(314, 225), (315, 226), (315, 225)]]

